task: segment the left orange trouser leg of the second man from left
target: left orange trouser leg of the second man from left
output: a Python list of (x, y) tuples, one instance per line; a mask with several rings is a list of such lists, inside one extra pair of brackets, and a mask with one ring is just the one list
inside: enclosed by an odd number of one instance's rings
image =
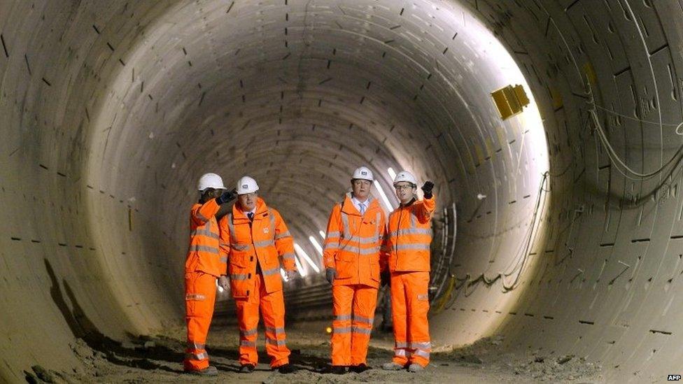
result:
[(263, 280), (255, 278), (249, 297), (235, 299), (239, 323), (239, 364), (258, 364), (256, 339), (258, 333), (258, 304), (260, 292), (264, 290)]

